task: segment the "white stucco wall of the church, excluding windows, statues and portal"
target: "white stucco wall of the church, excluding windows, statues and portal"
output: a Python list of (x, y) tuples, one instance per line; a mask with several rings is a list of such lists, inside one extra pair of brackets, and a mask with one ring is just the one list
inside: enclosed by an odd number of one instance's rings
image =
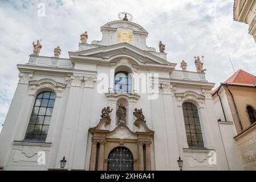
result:
[[(130, 32), (130, 43), (119, 42), (120, 30)], [(92, 150), (89, 129), (97, 126), (101, 109), (109, 106), (113, 109), (111, 123), (101, 130), (115, 130), (117, 106), (124, 101), (127, 107), (125, 126), (129, 130), (144, 132), (143, 127), (134, 125), (133, 110), (138, 108), (143, 109), (148, 129), (155, 131), (150, 146), (152, 170), (178, 170), (179, 156), (184, 160), (184, 170), (242, 169), (236, 162), (238, 159), (233, 158), (234, 154), (226, 152), (233, 143), (228, 143), (228, 139), (223, 142), (220, 131), (226, 133), (226, 126), (221, 129), (218, 126), (211, 95), (214, 84), (206, 80), (205, 73), (176, 70), (176, 64), (166, 60), (166, 53), (147, 47), (148, 32), (136, 23), (109, 22), (101, 27), (101, 32), (101, 41), (79, 43), (77, 52), (69, 52), (70, 59), (30, 55), (27, 64), (18, 64), (19, 84), (0, 134), (0, 167), (4, 170), (58, 169), (59, 161), (66, 156), (65, 168), (89, 170)], [(141, 93), (135, 90), (133, 81), (132, 93), (116, 94), (113, 77), (117, 71), (158, 73), (157, 90)], [(102, 82), (97, 77), (101, 73), (108, 75), (105, 93), (98, 90)], [(46, 141), (24, 140), (35, 97), (42, 91), (56, 94)], [(149, 99), (152, 93), (156, 99)], [(182, 111), (184, 102), (197, 106), (204, 148), (188, 146)], [(133, 135), (118, 130), (115, 135), (109, 134), (109, 138), (121, 141), (133, 139)], [(226, 142), (227, 148), (224, 147)], [(46, 164), (38, 164), (39, 151), (45, 152)], [(209, 162), (209, 152), (213, 151), (216, 152), (214, 164)]]

